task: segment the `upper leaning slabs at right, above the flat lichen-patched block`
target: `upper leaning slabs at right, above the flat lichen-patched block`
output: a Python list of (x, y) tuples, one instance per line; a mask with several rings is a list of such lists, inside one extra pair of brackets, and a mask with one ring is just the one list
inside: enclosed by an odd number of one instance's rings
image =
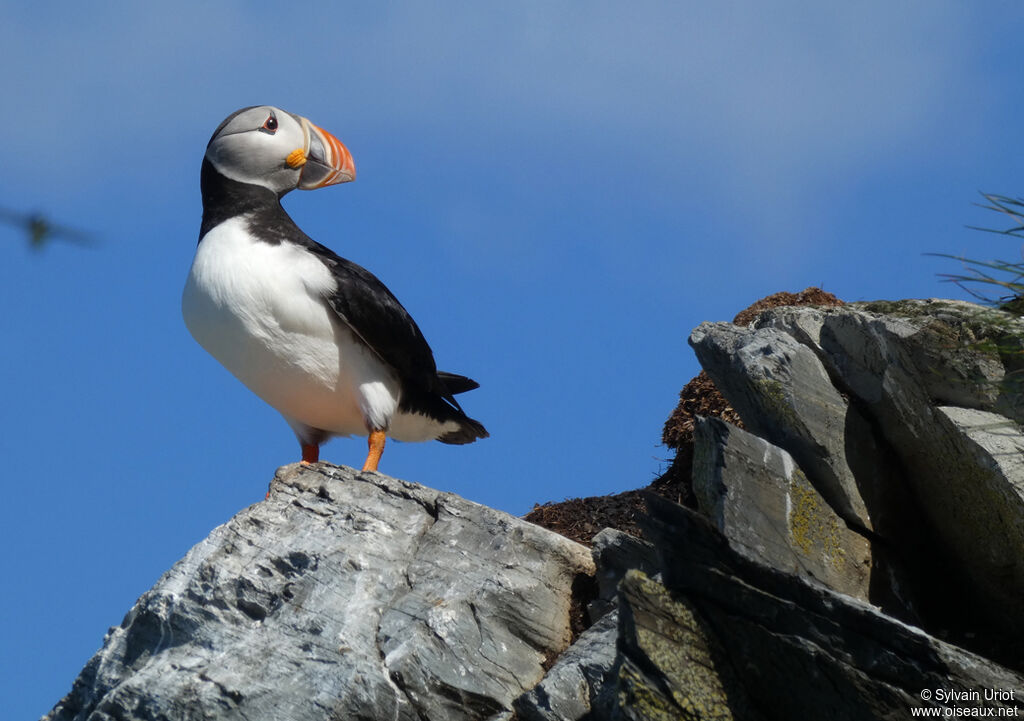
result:
[(952, 301), (778, 307), (702, 324), (691, 343), (746, 428), (848, 523), (866, 513), (872, 602), (1024, 664), (1018, 471), (954, 422), (1020, 422), (1024, 321)]

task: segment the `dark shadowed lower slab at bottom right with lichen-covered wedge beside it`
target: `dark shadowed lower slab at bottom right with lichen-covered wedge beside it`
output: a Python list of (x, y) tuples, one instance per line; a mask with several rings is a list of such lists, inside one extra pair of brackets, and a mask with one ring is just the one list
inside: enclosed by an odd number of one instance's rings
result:
[(658, 577), (627, 571), (617, 611), (516, 703), (525, 721), (1024, 713), (1024, 675), (752, 558), (682, 506), (658, 497), (649, 506)]

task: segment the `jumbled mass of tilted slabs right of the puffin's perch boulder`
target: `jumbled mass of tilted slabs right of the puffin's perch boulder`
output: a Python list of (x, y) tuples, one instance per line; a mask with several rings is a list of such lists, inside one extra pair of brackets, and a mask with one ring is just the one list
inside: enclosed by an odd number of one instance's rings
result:
[(614, 660), (573, 647), (575, 682), (546, 678), (523, 718), (1024, 713), (1022, 341), (1013, 316), (937, 301), (698, 328), (753, 432), (697, 418), (699, 511), (650, 496), (649, 543), (601, 535)]

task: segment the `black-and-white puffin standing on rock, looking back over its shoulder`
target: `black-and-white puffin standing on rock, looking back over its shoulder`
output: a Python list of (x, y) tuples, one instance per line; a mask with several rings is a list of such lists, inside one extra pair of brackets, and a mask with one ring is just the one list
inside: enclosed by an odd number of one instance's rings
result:
[(355, 179), (348, 149), (272, 105), (229, 115), (206, 146), (203, 219), (181, 297), (188, 332), (291, 426), (302, 463), (333, 436), (367, 436), (364, 471), (387, 437), (487, 437), (456, 395), (476, 381), (433, 351), (376, 275), (309, 238), (281, 199)]

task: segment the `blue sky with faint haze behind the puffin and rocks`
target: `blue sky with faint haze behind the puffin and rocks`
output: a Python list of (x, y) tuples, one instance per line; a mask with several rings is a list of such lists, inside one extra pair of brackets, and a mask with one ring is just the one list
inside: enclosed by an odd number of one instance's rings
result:
[[(925, 253), (1019, 258), (1024, 9), (809, 3), (5, 3), (0, 698), (36, 718), (106, 628), (298, 459), (179, 299), (199, 166), (238, 108), (304, 115), (358, 179), (294, 193), (481, 388), (471, 447), (381, 469), (514, 514), (645, 485), (686, 344), (776, 291), (963, 297)], [(358, 465), (361, 439), (322, 457)]]

